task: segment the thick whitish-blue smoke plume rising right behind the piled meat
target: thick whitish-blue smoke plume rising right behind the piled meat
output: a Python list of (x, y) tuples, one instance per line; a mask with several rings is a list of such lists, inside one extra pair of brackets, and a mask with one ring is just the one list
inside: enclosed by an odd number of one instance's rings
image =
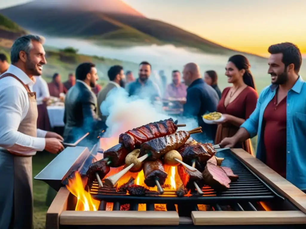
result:
[(195, 119), (167, 115), (160, 105), (153, 105), (147, 99), (129, 97), (124, 89), (111, 90), (101, 104), (101, 111), (103, 115), (108, 115), (108, 129), (103, 137), (118, 138), (121, 133), (130, 129), (168, 118), (178, 120), (179, 124), (186, 124), (180, 130), (190, 130), (198, 126)]

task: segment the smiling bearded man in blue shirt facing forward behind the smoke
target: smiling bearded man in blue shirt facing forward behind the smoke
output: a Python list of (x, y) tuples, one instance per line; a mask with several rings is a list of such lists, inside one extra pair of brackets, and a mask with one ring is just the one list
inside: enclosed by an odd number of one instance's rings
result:
[(151, 75), (151, 64), (143, 61), (139, 65), (139, 78), (132, 82), (129, 87), (130, 96), (139, 96), (140, 98), (149, 98), (151, 101), (159, 100), (161, 93), (158, 85), (152, 82), (149, 77)]

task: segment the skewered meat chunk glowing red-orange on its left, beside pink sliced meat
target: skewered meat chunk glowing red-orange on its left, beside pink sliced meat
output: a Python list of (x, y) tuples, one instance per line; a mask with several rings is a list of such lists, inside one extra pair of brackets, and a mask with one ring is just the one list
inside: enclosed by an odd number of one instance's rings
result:
[(177, 166), (177, 172), (185, 188), (194, 190), (194, 181), (200, 188), (204, 186), (205, 182), (200, 171), (197, 170), (196, 172), (192, 172), (189, 169), (186, 169), (184, 165), (179, 165)]

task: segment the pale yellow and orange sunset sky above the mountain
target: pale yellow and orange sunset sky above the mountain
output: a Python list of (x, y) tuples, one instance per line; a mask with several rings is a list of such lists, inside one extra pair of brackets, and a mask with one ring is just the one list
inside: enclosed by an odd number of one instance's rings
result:
[[(267, 55), (269, 45), (288, 41), (306, 54), (305, 0), (122, 1), (149, 18), (233, 49)], [(29, 1), (0, 0), (0, 8), (24, 2)]]

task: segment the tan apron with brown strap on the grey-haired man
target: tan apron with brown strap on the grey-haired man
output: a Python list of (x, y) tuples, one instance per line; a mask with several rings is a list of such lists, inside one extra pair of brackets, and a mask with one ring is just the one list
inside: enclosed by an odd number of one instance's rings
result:
[[(1, 78), (13, 77), (28, 92), (29, 110), (21, 121), (18, 132), (36, 137), (37, 104), (36, 94), (31, 92), (15, 75), (6, 73)], [(32, 228), (33, 192), (32, 192), (32, 156), (0, 149), (0, 228)]]

